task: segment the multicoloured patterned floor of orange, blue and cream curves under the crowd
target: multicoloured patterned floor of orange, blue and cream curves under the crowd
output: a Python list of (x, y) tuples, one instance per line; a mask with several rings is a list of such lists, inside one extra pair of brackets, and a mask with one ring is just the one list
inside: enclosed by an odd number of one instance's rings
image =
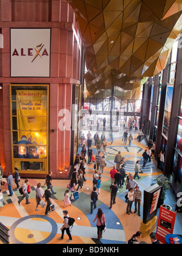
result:
[[(86, 132), (85, 132), (86, 134)], [(93, 134), (92, 134), (93, 135)], [(109, 135), (106, 133), (109, 137)], [(126, 214), (126, 202), (125, 195), (127, 193), (126, 187), (120, 188), (116, 197), (116, 204), (112, 209), (110, 206), (110, 169), (114, 165), (115, 154), (120, 150), (122, 157), (125, 158), (126, 172), (134, 173), (134, 165), (136, 160), (140, 160), (140, 165), (143, 164), (142, 153), (146, 148), (144, 141), (138, 143), (135, 138), (137, 135), (133, 133), (134, 140), (131, 146), (123, 145), (120, 135), (115, 137), (114, 143), (107, 146), (107, 167), (104, 168), (101, 182), (101, 194), (97, 201), (97, 208), (93, 210), (93, 215), (90, 215), (90, 197), (89, 193), (92, 191), (92, 176), (93, 176), (93, 163), (86, 168), (86, 179), (84, 188), (79, 190), (79, 199), (73, 202), (72, 206), (66, 207), (69, 211), (69, 216), (75, 218), (75, 224), (72, 228), (73, 240), (69, 244), (126, 244), (133, 233), (140, 230), (140, 224), (143, 219), (143, 209), (141, 209), (141, 216), (136, 214)], [(109, 139), (108, 139), (109, 141)], [(93, 153), (96, 154), (95, 146), (92, 147)], [(80, 148), (79, 148), (80, 151)], [(102, 152), (103, 154), (103, 152)], [(152, 180), (160, 174), (160, 171), (156, 168), (156, 161), (152, 158), (152, 162), (147, 163), (146, 168), (142, 169), (143, 174), (140, 174), (141, 179), (136, 181), (140, 186), (140, 190), (143, 191), (150, 186)], [(64, 235), (64, 240), (58, 240), (61, 234), (60, 228), (63, 222), (62, 210), (64, 200), (64, 191), (66, 190), (69, 180), (53, 180), (53, 189), (56, 194), (52, 196), (56, 210), (50, 213), (49, 216), (45, 216), (45, 209), (39, 208), (38, 212), (35, 212), (35, 189), (36, 184), (41, 182), (42, 194), (44, 194), (44, 181), (40, 179), (29, 179), (31, 185), (31, 193), (29, 194), (30, 204), (26, 205), (25, 200), (18, 204), (19, 191), (16, 190), (15, 183), (13, 183), (13, 196), (8, 197), (7, 187), (2, 187), (4, 191), (4, 207), (0, 208), (0, 222), (4, 224), (9, 231), (9, 241), (12, 244), (18, 243), (50, 243), (50, 244), (67, 244), (68, 236)], [(22, 183), (22, 180), (21, 180)], [(167, 193), (166, 204), (170, 204), (175, 207), (175, 197), (172, 191)], [(2, 205), (1, 205), (2, 206)], [(102, 208), (106, 215), (106, 232), (103, 233), (101, 240), (97, 239), (96, 223), (93, 223), (93, 219), (97, 213), (97, 209)], [(133, 207), (132, 207), (133, 208)], [(141, 204), (143, 208), (143, 203)], [(177, 214), (177, 220), (175, 224), (175, 233), (182, 234), (182, 219), (181, 214)], [(145, 243), (151, 243), (149, 236), (141, 238), (141, 241)], [(2, 242), (0, 241), (0, 244)]]

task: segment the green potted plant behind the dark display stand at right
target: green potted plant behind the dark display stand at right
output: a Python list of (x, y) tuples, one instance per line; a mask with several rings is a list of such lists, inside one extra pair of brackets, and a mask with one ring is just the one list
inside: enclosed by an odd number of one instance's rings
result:
[(161, 193), (160, 199), (159, 199), (159, 204), (158, 206), (160, 207), (160, 205), (164, 204), (164, 200), (166, 199), (166, 193), (167, 190), (170, 188), (169, 186), (169, 179), (167, 179), (166, 176), (164, 176), (164, 174), (160, 174), (159, 176), (157, 176), (157, 178), (155, 180), (153, 180), (153, 183), (151, 184), (158, 184), (159, 186), (163, 186), (163, 191)]

